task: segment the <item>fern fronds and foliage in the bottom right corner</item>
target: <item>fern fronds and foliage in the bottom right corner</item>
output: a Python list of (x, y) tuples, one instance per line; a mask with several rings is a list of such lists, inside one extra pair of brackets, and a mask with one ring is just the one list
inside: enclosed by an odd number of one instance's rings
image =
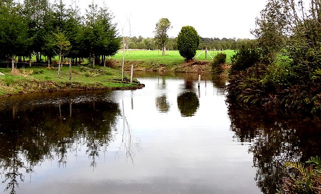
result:
[(293, 168), (298, 174), (283, 178), (284, 193), (320, 193), (321, 192), (321, 158), (311, 157), (306, 165), (300, 162), (287, 161), (285, 168)]

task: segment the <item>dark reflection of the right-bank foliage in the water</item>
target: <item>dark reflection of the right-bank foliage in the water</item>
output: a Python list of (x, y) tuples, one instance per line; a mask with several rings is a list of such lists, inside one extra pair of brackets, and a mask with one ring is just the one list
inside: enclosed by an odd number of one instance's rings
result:
[(249, 144), (255, 180), (263, 193), (275, 193), (286, 175), (285, 161), (306, 161), (320, 155), (321, 120), (300, 116), (266, 113), (229, 105), (234, 138)]

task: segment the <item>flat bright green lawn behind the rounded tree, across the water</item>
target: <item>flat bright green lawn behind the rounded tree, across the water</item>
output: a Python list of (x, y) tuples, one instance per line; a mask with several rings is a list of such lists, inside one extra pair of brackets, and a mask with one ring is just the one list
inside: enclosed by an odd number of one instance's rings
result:
[[(196, 56), (198, 56), (202, 51), (197, 51)], [(217, 53), (226, 53), (226, 62), (231, 63), (231, 56), (235, 54), (234, 50), (226, 51), (209, 51), (210, 55), (214, 57)], [(123, 53), (119, 51), (115, 56), (111, 58), (114, 60), (122, 60)], [(196, 58), (197, 60), (208, 60), (212, 61), (211, 57), (207, 54), (207, 59), (205, 59), (205, 52)], [(144, 61), (150, 63), (159, 63), (164, 65), (177, 65), (184, 63), (184, 58), (180, 55), (179, 51), (167, 51), (165, 56), (162, 56), (162, 51), (148, 51), (148, 50), (133, 50), (125, 53), (126, 61)]]

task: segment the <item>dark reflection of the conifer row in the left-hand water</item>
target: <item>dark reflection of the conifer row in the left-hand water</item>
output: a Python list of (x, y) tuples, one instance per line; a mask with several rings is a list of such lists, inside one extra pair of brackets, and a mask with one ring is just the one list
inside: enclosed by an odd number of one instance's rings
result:
[(67, 165), (67, 152), (76, 152), (83, 145), (96, 166), (102, 147), (112, 140), (120, 110), (114, 102), (61, 103), (14, 107), (0, 111), (0, 167), (5, 191), (15, 193), (24, 174), (32, 174), (34, 166), (44, 160), (57, 159), (58, 166)]

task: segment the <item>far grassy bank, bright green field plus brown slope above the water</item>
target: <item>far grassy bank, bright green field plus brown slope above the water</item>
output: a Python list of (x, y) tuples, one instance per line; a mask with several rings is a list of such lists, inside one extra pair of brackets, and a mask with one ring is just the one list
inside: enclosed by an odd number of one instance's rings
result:
[[(197, 51), (198, 56), (202, 51)], [(218, 52), (209, 51), (210, 55), (214, 57)], [(226, 50), (226, 62), (231, 63), (231, 56), (235, 51)], [(117, 66), (120, 66), (122, 60), (122, 52), (117, 53), (111, 59), (115, 61)], [(197, 63), (186, 64), (184, 58), (179, 51), (167, 51), (165, 56), (162, 56), (161, 51), (135, 50), (127, 51), (125, 53), (125, 69), (129, 70), (130, 65), (134, 65), (135, 70), (152, 70), (152, 71), (174, 71), (174, 72), (210, 72), (212, 59), (207, 55), (205, 59), (205, 52), (198, 56), (195, 61)], [(194, 65), (194, 67), (193, 67)]]

